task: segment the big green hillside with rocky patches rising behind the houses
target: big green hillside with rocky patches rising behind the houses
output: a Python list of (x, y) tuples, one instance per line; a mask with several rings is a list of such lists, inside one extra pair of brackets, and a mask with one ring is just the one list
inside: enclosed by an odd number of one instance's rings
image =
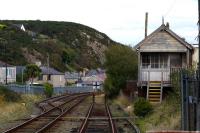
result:
[[(24, 25), (25, 31), (21, 30)], [(0, 21), (0, 60), (12, 65), (41, 61), (60, 71), (101, 67), (104, 51), (116, 45), (93, 28), (55, 21)], [(2, 40), (6, 40), (6, 52)], [(5, 41), (4, 41), (5, 42)]]

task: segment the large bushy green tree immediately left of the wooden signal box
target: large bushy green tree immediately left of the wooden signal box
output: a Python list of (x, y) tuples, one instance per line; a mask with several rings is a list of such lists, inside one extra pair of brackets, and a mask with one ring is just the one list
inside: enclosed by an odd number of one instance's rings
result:
[(137, 78), (137, 54), (130, 47), (114, 45), (105, 52), (105, 56), (107, 79), (104, 89), (108, 97), (113, 97), (125, 88), (127, 80)]

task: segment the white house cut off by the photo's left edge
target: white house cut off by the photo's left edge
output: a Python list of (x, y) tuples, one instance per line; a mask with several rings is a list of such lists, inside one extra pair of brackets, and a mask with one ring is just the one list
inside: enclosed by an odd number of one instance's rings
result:
[(16, 67), (0, 61), (0, 84), (6, 83), (6, 68), (7, 83), (16, 82)]

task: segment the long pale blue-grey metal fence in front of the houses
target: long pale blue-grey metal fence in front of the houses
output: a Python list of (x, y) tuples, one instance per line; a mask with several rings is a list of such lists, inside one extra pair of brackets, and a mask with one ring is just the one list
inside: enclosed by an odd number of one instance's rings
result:
[[(9, 84), (7, 87), (17, 93), (24, 94), (44, 94), (43, 86), (30, 86), (30, 85), (17, 85), (17, 84)], [(93, 86), (84, 86), (84, 87), (76, 87), (76, 86), (67, 86), (67, 87), (54, 87), (54, 94), (63, 94), (63, 93), (78, 93), (78, 92), (93, 92), (101, 90), (93, 88)]]

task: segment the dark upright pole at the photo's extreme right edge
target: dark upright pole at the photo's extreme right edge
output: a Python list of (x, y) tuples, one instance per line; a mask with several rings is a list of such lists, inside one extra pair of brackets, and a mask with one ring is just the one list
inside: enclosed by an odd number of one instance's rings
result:
[(198, 0), (198, 43), (199, 43), (199, 63), (198, 63), (199, 86), (197, 89), (196, 127), (197, 131), (200, 131), (200, 0)]

